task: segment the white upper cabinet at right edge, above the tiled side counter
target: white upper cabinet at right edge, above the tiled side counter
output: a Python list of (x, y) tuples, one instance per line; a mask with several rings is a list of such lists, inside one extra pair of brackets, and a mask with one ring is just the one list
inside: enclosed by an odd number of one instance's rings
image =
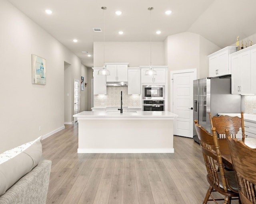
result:
[(256, 94), (256, 45), (230, 55), (232, 94)]

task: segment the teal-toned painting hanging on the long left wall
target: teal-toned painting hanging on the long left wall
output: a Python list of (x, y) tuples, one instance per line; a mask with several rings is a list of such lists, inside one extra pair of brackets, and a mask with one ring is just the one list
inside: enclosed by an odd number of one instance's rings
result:
[(32, 84), (46, 84), (46, 59), (32, 54)]

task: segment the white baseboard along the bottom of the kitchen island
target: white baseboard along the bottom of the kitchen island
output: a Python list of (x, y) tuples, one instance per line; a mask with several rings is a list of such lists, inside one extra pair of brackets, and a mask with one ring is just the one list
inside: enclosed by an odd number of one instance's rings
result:
[(174, 148), (164, 149), (77, 149), (77, 153), (174, 153)]

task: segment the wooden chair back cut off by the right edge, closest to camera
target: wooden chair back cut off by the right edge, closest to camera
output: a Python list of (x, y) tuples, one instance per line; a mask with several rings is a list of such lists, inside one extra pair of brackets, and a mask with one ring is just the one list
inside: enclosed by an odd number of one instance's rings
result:
[(256, 149), (252, 149), (228, 136), (232, 163), (238, 179), (238, 192), (242, 204), (256, 204)]

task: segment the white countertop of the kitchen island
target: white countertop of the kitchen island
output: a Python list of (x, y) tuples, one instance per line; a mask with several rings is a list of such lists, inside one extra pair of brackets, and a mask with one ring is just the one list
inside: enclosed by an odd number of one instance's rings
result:
[(178, 115), (169, 111), (106, 112), (83, 111), (73, 115), (78, 120), (174, 120)]

